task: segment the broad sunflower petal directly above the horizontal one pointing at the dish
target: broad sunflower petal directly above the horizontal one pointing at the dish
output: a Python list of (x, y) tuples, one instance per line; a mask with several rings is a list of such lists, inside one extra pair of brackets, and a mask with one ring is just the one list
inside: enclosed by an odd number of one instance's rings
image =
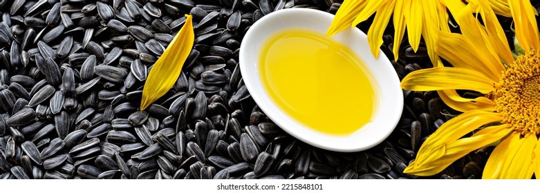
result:
[(462, 34), (439, 32), (435, 52), (454, 67), (481, 72), (493, 82), (499, 81), (502, 72), (499, 70), (504, 70), (500, 61), (493, 61), (493, 56), (476, 48), (475, 44)]

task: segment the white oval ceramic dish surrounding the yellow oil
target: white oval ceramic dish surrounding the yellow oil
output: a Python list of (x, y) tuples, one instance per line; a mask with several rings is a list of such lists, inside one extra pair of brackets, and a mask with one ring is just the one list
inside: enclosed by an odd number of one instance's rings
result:
[(375, 94), (378, 97), (375, 101), (379, 102), (372, 122), (358, 128), (353, 134), (344, 136), (324, 134), (299, 123), (270, 99), (259, 77), (257, 63), (263, 43), (268, 37), (291, 28), (304, 28), (324, 35), (333, 18), (333, 14), (307, 8), (279, 10), (266, 15), (251, 26), (242, 40), (240, 70), (254, 101), (283, 130), (317, 148), (336, 152), (357, 152), (372, 148), (386, 139), (398, 124), (403, 108), (398, 75), (382, 51), (378, 59), (373, 57), (364, 32), (350, 28), (331, 37), (351, 48), (366, 63), (367, 69), (375, 79), (375, 91), (378, 93)]

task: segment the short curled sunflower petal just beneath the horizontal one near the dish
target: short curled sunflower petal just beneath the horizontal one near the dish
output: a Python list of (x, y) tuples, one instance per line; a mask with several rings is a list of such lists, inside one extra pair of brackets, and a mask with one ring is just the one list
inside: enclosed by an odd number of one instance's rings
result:
[(438, 90), (437, 93), (446, 105), (460, 112), (469, 110), (492, 112), (495, 110), (495, 103), (483, 96), (477, 97), (476, 99), (466, 99), (459, 96), (456, 90)]

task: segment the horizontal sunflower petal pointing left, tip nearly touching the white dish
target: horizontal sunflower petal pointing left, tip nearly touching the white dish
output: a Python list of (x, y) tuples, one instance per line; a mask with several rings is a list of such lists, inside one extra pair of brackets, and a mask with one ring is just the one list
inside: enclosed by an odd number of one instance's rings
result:
[(491, 79), (467, 68), (427, 68), (407, 74), (401, 81), (405, 90), (474, 90), (487, 94), (494, 90)]

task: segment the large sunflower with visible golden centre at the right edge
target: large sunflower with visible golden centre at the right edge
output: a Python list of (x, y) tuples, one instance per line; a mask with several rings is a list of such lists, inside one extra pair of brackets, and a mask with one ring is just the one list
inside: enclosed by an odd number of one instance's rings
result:
[[(528, 0), (508, 1), (516, 39), (524, 54), (514, 59), (495, 12), (486, 1), (470, 1), (459, 14), (462, 34), (439, 32), (435, 52), (453, 67), (411, 72), (406, 90), (437, 90), (463, 114), (440, 126), (420, 147), (405, 173), (431, 176), (474, 150), (496, 145), (483, 179), (540, 176), (540, 38)], [(482, 14), (482, 23), (474, 12)], [(517, 49), (516, 49), (517, 50)], [(456, 90), (481, 96), (461, 97)], [(469, 135), (473, 132), (472, 135)]]

